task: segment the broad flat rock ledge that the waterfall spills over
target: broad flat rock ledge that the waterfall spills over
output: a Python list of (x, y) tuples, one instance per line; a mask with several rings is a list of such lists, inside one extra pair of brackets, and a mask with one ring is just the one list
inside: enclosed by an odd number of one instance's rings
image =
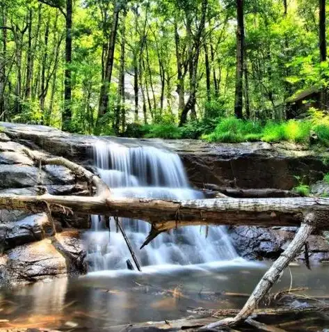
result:
[[(293, 143), (207, 143), (200, 140), (127, 139), (113, 136), (69, 134), (46, 126), (0, 122), (12, 139), (30, 141), (41, 149), (81, 163), (92, 159), (99, 141), (127, 147), (154, 146), (177, 152), (192, 184), (202, 188), (210, 183), (244, 189), (291, 189), (296, 175), (304, 181), (321, 180), (329, 166), (323, 156)], [(326, 153), (323, 152), (323, 155)], [(328, 155), (328, 154), (327, 154)], [(326, 155), (326, 156), (327, 156)], [(266, 171), (264, 171), (266, 170)]]

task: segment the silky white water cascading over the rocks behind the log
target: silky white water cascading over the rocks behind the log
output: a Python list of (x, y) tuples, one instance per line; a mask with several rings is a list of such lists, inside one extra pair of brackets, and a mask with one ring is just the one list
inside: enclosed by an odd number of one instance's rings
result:
[[(179, 156), (150, 146), (127, 148), (99, 141), (94, 146), (99, 175), (117, 197), (195, 199), (203, 193), (188, 186)], [(127, 237), (142, 267), (159, 264), (200, 264), (233, 260), (239, 256), (230, 243), (225, 228), (188, 226), (162, 233), (141, 251), (139, 248), (150, 232), (145, 221), (121, 219)], [(87, 232), (89, 271), (125, 269), (131, 255), (115, 223), (110, 232), (99, 216), (92, 216), (92, 230)]]

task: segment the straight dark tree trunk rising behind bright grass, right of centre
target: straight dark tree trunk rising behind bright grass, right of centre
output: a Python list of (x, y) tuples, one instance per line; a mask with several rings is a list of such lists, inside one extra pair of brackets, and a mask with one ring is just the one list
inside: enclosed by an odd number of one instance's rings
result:
[(242, 118), (243, 109), (243, 49), (244, 49), (244, 24), (243, 24), (243, 0), (236, 0), (236, 79), (234, 114), (236, 118)]

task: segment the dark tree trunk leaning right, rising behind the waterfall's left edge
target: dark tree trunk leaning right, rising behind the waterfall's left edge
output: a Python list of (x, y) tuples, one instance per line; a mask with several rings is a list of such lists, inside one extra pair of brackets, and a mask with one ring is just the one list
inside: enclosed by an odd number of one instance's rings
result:
[(120, 1), (115, 1), (113, 9), (113, 19), (111, 26), (111, 34), (109, 40), (109, 47), (106, 56), (106, 68), (104, 73), (104, 80), (102, 81), (102, 86), (99, 94), (99, 108), (98, 117), (101, 118), (106, 113), (109, 107), (109, 88), (112, 78), (113, 70), (113, 60), (114, 60), (114, 49), (115, 49), (115, 38), (118, 31), (118, 19), (120, 13)]

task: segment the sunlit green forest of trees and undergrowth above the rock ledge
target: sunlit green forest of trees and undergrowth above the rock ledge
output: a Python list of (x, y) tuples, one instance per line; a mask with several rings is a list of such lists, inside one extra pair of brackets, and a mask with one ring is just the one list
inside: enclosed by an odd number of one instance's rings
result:
[(325, 0), (1, 0), (0, 20), (2, 121), (329, 144)]

